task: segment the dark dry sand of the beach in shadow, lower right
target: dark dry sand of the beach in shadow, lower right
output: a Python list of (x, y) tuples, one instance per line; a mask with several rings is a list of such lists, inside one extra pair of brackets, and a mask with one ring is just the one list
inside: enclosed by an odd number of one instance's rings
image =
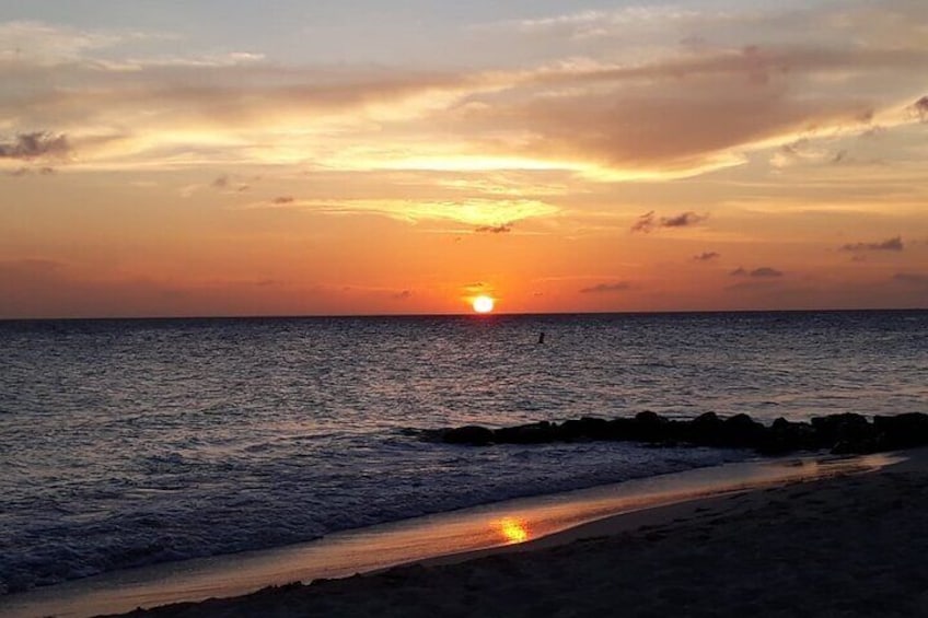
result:
[(875, 474), (619, 515), (463, 562), (132, 616), (928, 616), (928, 451), (906, 455)]

